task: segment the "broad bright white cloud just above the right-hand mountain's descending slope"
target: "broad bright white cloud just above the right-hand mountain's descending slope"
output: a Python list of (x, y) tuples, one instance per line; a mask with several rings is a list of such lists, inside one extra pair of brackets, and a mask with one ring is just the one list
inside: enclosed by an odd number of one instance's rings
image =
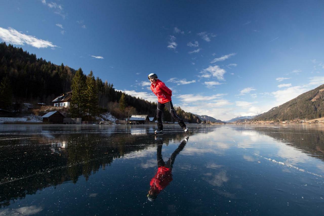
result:
[(307, 89), (302, 86), (294, 86), (285, 90), (273, 91), (271, 92), (271, 94), (276, 98), (276, 101), (278, 103), (276, 105), (280, 105), (294, 99), (305, 91), (307, 91)]

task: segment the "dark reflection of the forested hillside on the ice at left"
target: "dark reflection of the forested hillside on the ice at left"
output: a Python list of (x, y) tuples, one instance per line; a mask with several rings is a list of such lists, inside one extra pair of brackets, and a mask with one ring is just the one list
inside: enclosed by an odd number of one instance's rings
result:
[[(152, 135), (133, 136), (131, 130), (104, 128), (107, 127), (100, 127), (98, 132), (72, 128), (61, 133), (48, 130), (44, 133), (36, 127), (25, 129), (24, 134), (1, 137), (0, 207), (45, 187), (76, 183), (81, 176), (88, 180), (115, 158), (156, 145)], [(183, 136), (183, 133), (164, 135), (163, 142), (178, 142)]]

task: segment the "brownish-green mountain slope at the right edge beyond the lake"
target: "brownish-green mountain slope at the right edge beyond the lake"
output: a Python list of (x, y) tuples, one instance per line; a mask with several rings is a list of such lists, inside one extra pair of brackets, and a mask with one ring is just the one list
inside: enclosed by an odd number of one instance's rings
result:
[(324, 84), (307, 91), (298, 97), (273, 107), (266, 113), (256, 116), (253, 120), (295, 120), (324, 117)]

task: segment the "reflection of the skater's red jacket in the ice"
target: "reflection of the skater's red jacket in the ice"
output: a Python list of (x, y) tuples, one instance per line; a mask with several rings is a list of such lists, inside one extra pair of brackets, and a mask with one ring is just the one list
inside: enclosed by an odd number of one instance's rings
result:
[(151, 179), (150, 185), (151, 190), (160, 193), (168, 184), (172, 181), (171, 169), (165, 166), (160, 166), (157, 168), (157, 173)]

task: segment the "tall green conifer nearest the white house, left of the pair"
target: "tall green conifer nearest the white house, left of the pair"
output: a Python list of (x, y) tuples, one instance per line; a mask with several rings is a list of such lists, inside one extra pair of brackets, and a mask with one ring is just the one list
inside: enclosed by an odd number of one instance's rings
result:
[(86, 79), (81, 67), (76, 71), (72, 79), (72, 98), (70, 112), (72, 117), (81, 117), (86, 110), (85, 90)]

